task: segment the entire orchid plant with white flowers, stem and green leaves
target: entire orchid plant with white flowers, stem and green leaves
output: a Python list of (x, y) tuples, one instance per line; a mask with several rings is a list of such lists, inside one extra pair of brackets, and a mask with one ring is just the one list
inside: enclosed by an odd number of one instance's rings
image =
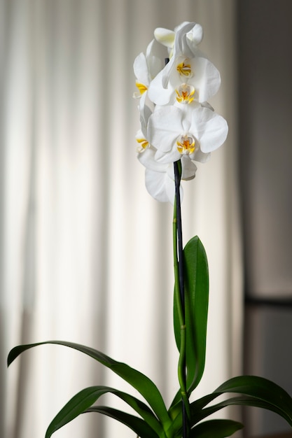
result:
[[(274, 411), (292, 426), (292, 398), (275, 383), (258, 376), (237, 376), (225, 381), (213, 393), (190, 402), (204, 372), (209, 276), (207, 256), (195, 236), (183, 248), (181, 227), (181, 180), (195, 177), (195, 162), (207, 162), (212, 151), (221, 146), (228, 125), (207, 100), (220, 87), (220, 73), (198, 49), (202, 27), (183, 22), (174, 31), (158, 28), (146, 54), (134, 60), (137, 78), (141, 129), (137, 132), (138, 160), (146, 168), (148, 192), (160, 202), (174, 204), (174, 337), (179, 351), (178, 390), (167, 408), (158, 387), (141, 372), (109, 358), (93, 348), (67, 341), (46, 341), (16, 346), (8, 355), (8, 365), (34, 346), (59, 344), (91, 356), (111, 369), (137, 390), (143, 400), (107, 386), (81, 390), (55, 416), (46, 438), (86, 412), (115, 418), (141, 438), (221, 438), (243, 427), (232, 420), (208, 416), (230, 405), (246, 405)], [(158, 46), (167, 48), (162, 62)], [(119, 397), (135, 412), (95, 404), (102, 395)], [(221, 402), (214, 400), (230, 393)]]

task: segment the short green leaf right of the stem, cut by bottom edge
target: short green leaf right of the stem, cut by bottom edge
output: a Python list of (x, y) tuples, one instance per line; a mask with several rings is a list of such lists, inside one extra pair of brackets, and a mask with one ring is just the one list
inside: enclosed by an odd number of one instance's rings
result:
[(209, 420), (200, 423), (190, 431), (190, 438), (225, 438), (244, 427), (232, 420)]

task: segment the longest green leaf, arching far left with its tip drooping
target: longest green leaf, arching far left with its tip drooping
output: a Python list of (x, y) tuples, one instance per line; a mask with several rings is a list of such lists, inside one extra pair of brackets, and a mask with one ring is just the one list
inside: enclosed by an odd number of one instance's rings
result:
[(94, 348), (67, 341), (45, 341), (39, 342), (37, 344), (20, 345), (13, 348), (9, 353), (8, 365), (10, 365), (11, 362), (13, 362), (13, 360), (15, 360), (18, 355), (20, 355), (20, 353), (28, 350), (29, 348), (44, 344), (57, 344), (67, 346), (69, 348), (74, 348), (75, 350), (81, 351), (82, 353), (89, 355), (91, 358), (94, 358), (105, 367), (108, 367), (113, 372), (118, 374), (118, 376), (120, 376), (122, 379), (127, 381), (127, 383), (130, 383), (130, 385), (144, 397), (144, 399), (148, 402), (148, 404), (150, 404), (151, 408), (155, 412), (156, 416), (158, 416), (158, 419), (160, 420), (162, 425), (165, 426), (165, 428), (170, 426), (171, 419), (169, 418), (169, 415), (167, 413), (165, 402), (163, 401), (162, 396), (153, 381), (151, 381), (151, 379), (148, 379), (147, 376), (137, 371), (136, 369), (129, 367), (129, 365), (126, 365), (123, 362), (117, 362), (116, 360), (109, 358), (109, 356), (95, 350)]

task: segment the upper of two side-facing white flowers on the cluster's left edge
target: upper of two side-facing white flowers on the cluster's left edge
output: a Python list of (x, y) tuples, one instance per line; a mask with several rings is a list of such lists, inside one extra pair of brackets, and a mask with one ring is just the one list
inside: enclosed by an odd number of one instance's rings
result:
[(141, 52), (134, 60), (134, 74), (136, 76), (136, 86), (139, 92), (134, 93), (135, 98), (141, 97), (148, 90), (151, 80), (155, 78), (162, 69), (162, 62), (155, 53), (155, 40), (148, 44), (146, 55)]

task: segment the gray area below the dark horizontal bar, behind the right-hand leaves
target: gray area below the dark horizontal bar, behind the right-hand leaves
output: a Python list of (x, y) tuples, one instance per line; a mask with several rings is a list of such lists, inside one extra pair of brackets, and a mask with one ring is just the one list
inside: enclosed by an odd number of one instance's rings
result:
[[(292, 395), (292, 308), (246, 308), (246, 374), (270, 379)], [(244, 411), (245, 436), (291, 431), (277, 414), (257, 408)]]

